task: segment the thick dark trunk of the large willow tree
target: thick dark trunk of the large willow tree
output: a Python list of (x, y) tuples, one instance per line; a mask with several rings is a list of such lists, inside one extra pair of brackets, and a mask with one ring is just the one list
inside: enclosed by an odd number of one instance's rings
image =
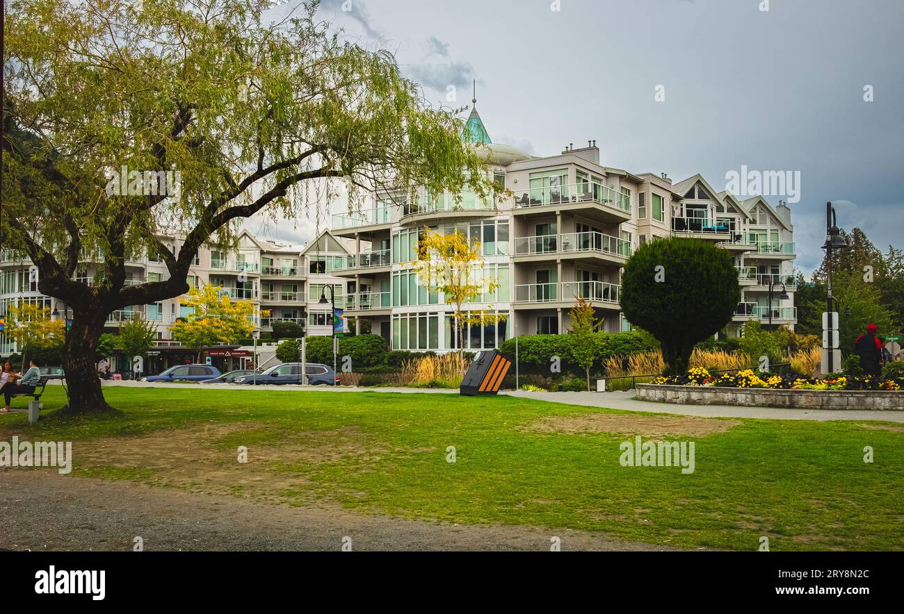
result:
[(69, 405), (66, 414), (100, 414), (117, 411), (107, 405), (100, 386), (95, 349), (104, 330), (107, 312), (97, 309), (89, 314), (75, 312), (72, 327), (66, 332), (62, 349), (62, 368), (66, 374)]

